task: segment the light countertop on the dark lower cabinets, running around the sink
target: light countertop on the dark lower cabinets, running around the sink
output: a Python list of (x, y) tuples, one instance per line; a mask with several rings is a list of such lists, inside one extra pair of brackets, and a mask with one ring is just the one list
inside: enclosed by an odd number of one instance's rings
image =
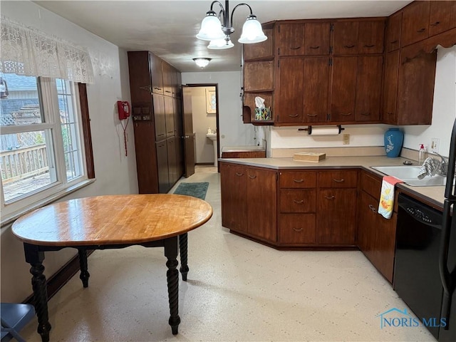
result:
[[(383, 173), (373, 170), (371, 166), (395, 166), (403, 165), (405, 160), (403, 157), (390, 158), (386, 156), (371, 156), (371, 157), (326, 157), (320, 162), (303, 162), (296, 161), (293, 158), (221, 158), (220, 161), (233, 162), (236, 164), (268, 167), (275, 170), (293, 170), (293, 169), (337, 169), (337, 168), (353, 168), (359, 167), (364, 170), (383, 176)], [(411, 160), (413, 165), (417, 165), (414, 160)], [(434, 204), (437, 209), (443, 208), (445, 187), (412, 187), (410, 185), (398, 184), (399, 189), (405, 190), (412, 195), (423, 198), (426, 202)]]

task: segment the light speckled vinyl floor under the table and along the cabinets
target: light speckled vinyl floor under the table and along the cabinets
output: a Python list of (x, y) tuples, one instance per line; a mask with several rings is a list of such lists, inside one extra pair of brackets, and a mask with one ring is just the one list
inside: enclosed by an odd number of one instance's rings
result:
[[(222, 227), (214, 167), (181, 181), (209, 182), (214, 215), (188, 234), (179, 334), (168, 325), (163, 250), (128, 247), (94, 252), (88, 288), (76, 274), (49, 301), (51, 341), (435, 341), (423, 326), (380, 328), (379, 314), (408, 308), (363, 253), (278, 251), (238, 237)], [(36, 326), (22, 331), (26, 341), (41, 341)]]

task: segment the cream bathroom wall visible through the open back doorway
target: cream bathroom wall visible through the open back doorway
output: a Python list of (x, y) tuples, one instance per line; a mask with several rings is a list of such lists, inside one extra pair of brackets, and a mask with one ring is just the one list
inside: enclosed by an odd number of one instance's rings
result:
[(195, 133), (196, 163), (214, 163), (214, 145), (206, 136), (207, 129), (217, 128), (215, 113), (206, 111), (206, 89), (215, 90), (215, 87), (192, 87), (192, 119)]

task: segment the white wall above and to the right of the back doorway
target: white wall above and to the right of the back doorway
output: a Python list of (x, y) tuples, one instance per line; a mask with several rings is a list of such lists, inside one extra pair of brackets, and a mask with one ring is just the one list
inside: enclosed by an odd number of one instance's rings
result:
[(219, 149), (223, 146), (257, 145), (256, 140), (254, 140), (253, 125), (242, 123), (240, 71), (182, 73), (182, 84), (187, 83), (218, 84)]

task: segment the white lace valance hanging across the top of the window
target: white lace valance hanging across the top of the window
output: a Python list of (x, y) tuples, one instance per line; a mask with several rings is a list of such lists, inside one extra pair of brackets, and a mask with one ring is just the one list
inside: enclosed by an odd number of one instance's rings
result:
[(1, 17), (0, 71), (93, 83), (86, 48)]

